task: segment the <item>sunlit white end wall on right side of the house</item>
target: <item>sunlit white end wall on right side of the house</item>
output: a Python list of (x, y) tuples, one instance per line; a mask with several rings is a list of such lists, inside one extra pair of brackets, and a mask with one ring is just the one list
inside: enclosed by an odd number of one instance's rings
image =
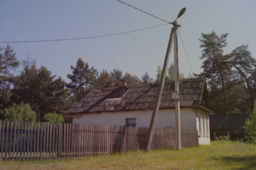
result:
[(198, 109), (196, 109), (196, 129), (198, 130), (199, 145), (210, 145), (209, 115)]

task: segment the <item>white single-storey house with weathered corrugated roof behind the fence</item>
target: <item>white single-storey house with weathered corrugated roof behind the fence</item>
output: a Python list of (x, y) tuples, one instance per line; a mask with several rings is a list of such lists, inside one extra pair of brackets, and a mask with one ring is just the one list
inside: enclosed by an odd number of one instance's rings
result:
[[(136, 125), (149, 127), (159, 83), (92, 89), (67, 113), (73, 123), (95, 125)], [(181, 129), (198, 130), (199, 145), (210, 144), (210, 100), (206, 79), (181, 79)], [(176, 128), (175, 102), (171, 98), (174, 81), (166, 81), (161, 98), (157, 128)]]

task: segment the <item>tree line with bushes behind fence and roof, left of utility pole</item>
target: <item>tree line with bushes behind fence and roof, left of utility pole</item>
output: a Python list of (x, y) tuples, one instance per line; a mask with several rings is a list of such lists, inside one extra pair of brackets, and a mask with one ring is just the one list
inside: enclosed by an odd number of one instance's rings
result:
[[(14, 76), (18, 67), (22, 68), (21, 74)], [(65, 111), (90, 89), (120, 86), (122, 79), (126, 79), (127, 85), (154, 82), (146, 72), (142, 79), (129, 73), (123, 74), (119, 69), (111, 72), (103, 69), (98, 72), (81, 58), (70, 69), (72, 73), (67, 75), (70, 79), (67, 83), (46, 67), (36, 67), (36, 62), (31, 57), (18, 61), (16, 52), (10, 45), (0, 47), (0, 119), (50, 121), (52, 118), (59, 123), (70, 122), (70, 117), (64, 116), (63, 120), (58, 115), (65, 115)], [(166, 79), (173, 77), (172, 69), (173, 63)]]

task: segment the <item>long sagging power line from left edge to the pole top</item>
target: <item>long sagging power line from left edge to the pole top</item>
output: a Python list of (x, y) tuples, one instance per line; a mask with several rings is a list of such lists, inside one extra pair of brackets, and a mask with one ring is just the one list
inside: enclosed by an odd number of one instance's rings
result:
[(84, 39), (92, 39), (92, 38), (105, 38), (105, 37), (110, 37), (114, 35), (122, 35), (122, 34), (127, 34), (127, 33), (134, 33), (137, 31), (142, 31), (142, 30), (148, 30), (151, 28), (157, 28), (160, 26), (166, 26), (169, 25), (169, 23), (164, 23), (158, 26), (152, 26), (152, 27), (147, 27), (147, 28), (142, 28), (142, 29), (137, 29), (137, 30), (130, 30), (122, 33), (113, 33), (113, 34), (107, 34), (107, 35), (96, 35), (96, 36), (90, 36), (90, 37), (82, 37), (82, 38), (63, 38), (63, 39), (54, 39), (54, 40), (23, 40), (23, 41), (1, 41), (0, 43), (26, 43), (26, 42), (53, 42), (53, 41), (68, 41), (68, 40), (84, 40)]

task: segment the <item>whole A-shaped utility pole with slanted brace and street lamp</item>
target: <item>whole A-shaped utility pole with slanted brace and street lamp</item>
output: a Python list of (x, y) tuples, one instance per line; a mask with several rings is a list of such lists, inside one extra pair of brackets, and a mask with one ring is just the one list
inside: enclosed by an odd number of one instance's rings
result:
[[(178, 17), (176, 20), (183, 15), (186, 11), (186, 8), (182, 8), (181, 11), (178, 13)], [(146, 151), (151, 149), (151, 143), (154, 135), (154, 127), (156, 125), (157, 115), (159, 113), (159, 106), (161, 103), (161, 96), (164, 89), (164, 81), (166, 78), (166, 70), (169, 63), (169, 57), (171, 52), (171, 45), (174, 41), (174, 74), (175, 74), (175, 92), (172, 94), (172, 98), (175, 100), (175, 115), (176, 115), (176, 149), (181, 150), (181, 115), (180, 115), (180, 101), (178, 97), (178, 39), (177, 39), (177, 29), (180, 27), (177, 21), (174, 21), (172, 24), (174, 25), (171, 28), (171, 35), (169, 38), (169, 43), (166, 51), (166, 57), (164, 60), (164, 67), (161, 73), (161, 80), (159, 84), (159, 91), (157, 94), (157, 100), (154, 105), (154, 111), (152, 113), (150, 125), (149, 125), (149, 133), (148, 133), (148, 143), (146, 146)]]

